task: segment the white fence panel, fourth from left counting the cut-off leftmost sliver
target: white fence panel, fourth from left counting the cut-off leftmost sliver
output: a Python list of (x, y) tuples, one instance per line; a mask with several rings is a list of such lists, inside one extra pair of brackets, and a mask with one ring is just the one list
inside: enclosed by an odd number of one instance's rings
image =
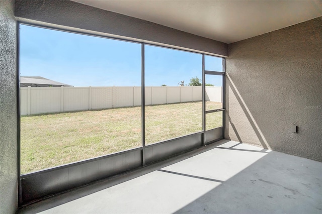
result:
[(113, 108), (113, 87), (92, 87), (92, 109)]

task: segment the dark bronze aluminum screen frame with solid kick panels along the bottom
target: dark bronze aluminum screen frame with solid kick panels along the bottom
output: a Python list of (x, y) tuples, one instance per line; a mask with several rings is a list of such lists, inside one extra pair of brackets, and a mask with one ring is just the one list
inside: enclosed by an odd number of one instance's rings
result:
[[(29, 25), (34, 27), (46, 28), (50, 30), (58, 30), (68, 33), (76, 33), (88, 36), (95, 36), (125, 42), (132, 42), (141, 44), (141, 135), (142, 135), (142, 146), (120, 151), (113, 154), (108, 154), (100, 157), (94, 157), (87, 160), (82, 160), (74, 163), (68, 163), (61, 166), (55, 166), (49, 169), (44, 169), (36, 172), (31, 172), (28, 174), (21, 175), (21, 135), (20, 135), (20, 25)], [(145, 45), (152, 45), (156, 47), (169, 48), (173, 50), (180, 50), (190, 53), (198, 53), (202, 54), (202, 126), (203, 131), (192, 133), (186, 136), (181, 136), (174, 139), (169, 139), (163, 142), (158, 142), (150, 145), (145, 145)], [(209, 55), (209, 54), (207, 54)], [(209, 55), (212, 56), (212, 55)], [(225, 99), (224, 99), (224, 88), (225, 88), (225, 70), (223, 72), (215, 72), (215, 71), (206, 71), (204, 64), (205, 54), (200, 53), (198, 51), (187, 51), (177, 48), (170, 48), (162, 45), (149, 44), (148, 42), (137, 42), (126, 39), (119, 39), (117, 37), (110, 36), (100, 36), (91, 33), (82, 33), (72, 30), (63, 30), (59, 28), (47, 27), (45, 25), (35, 25), (30, 24), (28, 22), (17, 22), (17, 116), (18, 116), (18, 157), (17, 157), (17, 169), (18, 169), (18, 204), (19, 207), (23, 205), (27, 205), (38, 200), (42, 200), (46, 197), (50, 197), (52, 195), (60, 194), (65, 191), (69, 191), (72, 188), (76, 188), (79, 186), (87, 185), (89, 183), (95, 182), (97, 180), (106, 179), (114, 175), (122, 174), (130, 170), (135, 170), (140, 167), (144, 167), (147, 164), (152, 164), (157, 161), (161, 161), (167, 159), (169, 157), (200, 148), (202, 146), (213, 143), (217, 140), (222, 139), (223, 130), (225, 127), (224, 124), (224, 116), (222, 127), (218, 127), (212, 130), (205, 130), (205, 115), (210, 113), (205, 110), (205, 74), (215, 74), (215, 75), (223, 75), (223, 108), (215, 111), (224, 111), (225, 110)], [(221, 57), (222, 58), (222, 57)], [(223, 63), (225, 62), (224, 58), (222, 58)], [(224, 68), (225, 69), (225, 68)], [(224, 115), (224, 114), (223, 114)], [(219, 135), (221, 133), (221, 135)], [(208, 136), (208, 137), (207, 137)], [(154, 150), (154, 151), (153, 151)], [(129, 157), (130, 154), (137, 154), (137, 157)], [(124, 158), (127, 157), (125, 161)], [(119, 161), (112, 161), (112, 160)], [(111, 166), (109, 162), (116, 163), (117, 166), (114, 166), (108, 170), (106, 167)], [(102, 162), (105, 163), (102, 165)], [(100, 166), (103, 166), (103, 168)], [(91, 166), (91, 167), (89, 167)], [(93, 166), (95, 166), (93, 169)], [(105, 168), (104, 168), (105, 167)], [(107, 170), (107, 171), (106, 171)], [(68, 172), (68, 176), (66, 173)], [(87, 174), (90, 173), (90, 174)], [(54, 175), (54, 176), (53, 176)], [(86, 175), (86, 176), (85, 176)], [(77, 179), (77, 176), (80, 176)], [(86, 179), (85, 179), (86, 178)], [(57, 188), (57, 186), (63, 183), (62, 188)], [(37, 186), (37, 188), (30, 188), (33, 186)], [(27, 188), (25, 188), (27, 187)], [(29, 187), (29, 188), (28, 188)]]

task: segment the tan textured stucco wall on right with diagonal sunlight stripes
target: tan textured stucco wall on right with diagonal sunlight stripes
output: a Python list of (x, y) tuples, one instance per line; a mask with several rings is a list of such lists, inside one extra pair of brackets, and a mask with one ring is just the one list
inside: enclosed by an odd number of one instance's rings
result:
[(322, 17), (229, 44), (228, 54), (225, 137), (322, 161)]

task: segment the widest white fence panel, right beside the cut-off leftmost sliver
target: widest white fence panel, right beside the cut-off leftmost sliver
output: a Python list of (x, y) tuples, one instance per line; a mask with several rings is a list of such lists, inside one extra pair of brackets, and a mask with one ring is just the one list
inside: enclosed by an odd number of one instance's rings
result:
[(30, 114), (60, 112), (60, 87), (31, 87)]

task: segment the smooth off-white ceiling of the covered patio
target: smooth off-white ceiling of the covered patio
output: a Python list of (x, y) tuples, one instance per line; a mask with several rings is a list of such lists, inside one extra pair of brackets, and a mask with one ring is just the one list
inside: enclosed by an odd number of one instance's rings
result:
[(73, 1), (228, 44), (322, 16), (322, 1)]

